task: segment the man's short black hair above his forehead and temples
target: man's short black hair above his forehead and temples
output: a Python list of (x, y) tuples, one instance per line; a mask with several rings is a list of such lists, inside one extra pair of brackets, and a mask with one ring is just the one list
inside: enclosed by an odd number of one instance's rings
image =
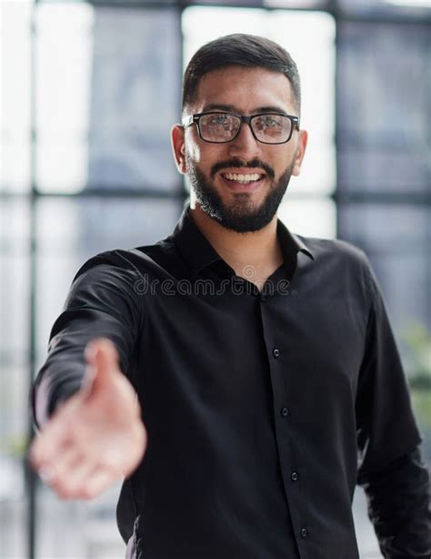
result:
[(298, 69), (292, 56), (270, 39), (242, 33), (219, 37), (195, 52), (185, 69), (183, 110), (194, 101), (201, 77), (207, 72), (226, 66), (261, 67), (284, 74), (292, 86), (299, 115), (301, 86)]

